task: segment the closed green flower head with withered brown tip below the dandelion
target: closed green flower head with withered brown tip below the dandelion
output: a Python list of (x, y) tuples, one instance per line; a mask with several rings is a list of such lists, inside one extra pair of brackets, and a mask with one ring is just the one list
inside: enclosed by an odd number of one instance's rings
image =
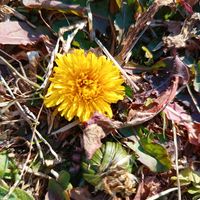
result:
[(134, 157), (120, 143), (106, 142), (84, 161), (83, 178), (96, 190), (104, 190), (112, 197), (128, 197), (135, 193), (137, 178), (131, 174)]

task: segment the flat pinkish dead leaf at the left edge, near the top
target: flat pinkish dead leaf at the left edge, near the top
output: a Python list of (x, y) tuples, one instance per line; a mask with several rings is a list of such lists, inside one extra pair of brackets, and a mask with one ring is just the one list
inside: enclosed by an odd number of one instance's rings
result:
[(0, 23), (0, 44), (31, 44), (42, 35), (25, 22), (6, 21)]

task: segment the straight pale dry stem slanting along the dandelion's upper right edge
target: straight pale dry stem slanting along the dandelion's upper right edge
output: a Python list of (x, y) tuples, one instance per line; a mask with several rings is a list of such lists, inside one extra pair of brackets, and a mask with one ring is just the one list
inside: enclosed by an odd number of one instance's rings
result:
[(120, 70), (124, 78), (129, 82), (130, 87), (133, 89), (134, 92), (139, 91), (139, 87), (132, 81), (132, 79), (128, 76), (128, 74), (121, 68), (118, 62), (113, 58), (113, 56), (109, 53), (109, 51), (103, 46), (103, 44), (98, 40), (96, 37), (94, 38), (95, 42), (99, 45), (99, 47), (103, 50), (106, 56), (112, 60), (112, 62), (117, 66)]

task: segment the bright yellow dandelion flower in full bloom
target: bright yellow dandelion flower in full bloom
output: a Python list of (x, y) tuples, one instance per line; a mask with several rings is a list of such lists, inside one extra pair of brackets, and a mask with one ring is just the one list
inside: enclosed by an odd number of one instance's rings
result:
[(51, 84), (44, 98), (46, 107), (57, 106), (67, 120), (87, 121), (94, 112), (112, 118), (111, 103), (124, 97), (120, 71), (105, 56), (74, 50), (57, 55)]

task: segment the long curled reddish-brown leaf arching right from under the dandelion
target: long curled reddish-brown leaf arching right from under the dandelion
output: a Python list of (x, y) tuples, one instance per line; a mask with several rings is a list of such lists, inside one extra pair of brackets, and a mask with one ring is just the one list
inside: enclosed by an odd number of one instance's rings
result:
[[(168, 59), (169, 65), (166, 67), (165, 79), (163, 80), (162, 78), (160, 85), (157, 85), (157, 88), (159, 90), (162, 88), (162, 90), (157, 91), (159, 95), (156, 99), (155, 97), (152, 99), (153, 102), (151, 104), (145, 106), (144, 101), (151, 95), (152, 92), (155, 93), (156, 89), (153, 91), (147, 91), (147, 95), (137, 94), (139, 100), (136, 102), (140, 102), (140, 106), (138, 103), (132, 103), (132, 108), (129, 111), (127, 122), (123, 123), (119, 121), (112, 121), (104, 116), (95, 114), (89, 121), (89, 124), (91, 122), (95, 122), (103, 127), (104, 130), (106, 129), (108, 131), (113, 128), (118, 129), (142, 124), (149, 121), (159, 112), (161, 112), (176, 96), (176, 91), (179, 84), (186, 84), (189, 81), (189, 72), (187, 66), (180, 60), (178, 56), (176, 56), (174, 59), (172, 57), (166, 59)], [(173, 69), (171, 69), (171, 66), (173, 66)], [(144, 96), (146, 99), (142, 99)]]

